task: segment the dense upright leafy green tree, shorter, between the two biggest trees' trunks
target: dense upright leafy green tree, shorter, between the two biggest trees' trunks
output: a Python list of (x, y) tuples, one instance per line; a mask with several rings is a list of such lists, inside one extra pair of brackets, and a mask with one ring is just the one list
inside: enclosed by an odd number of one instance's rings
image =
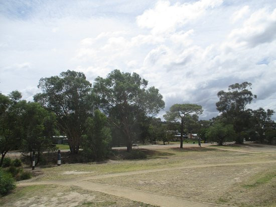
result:
[(93, 119), (89, 117), (86, 120), (82, 154), (88, 160), (101, 160), (107, 154), (111, 137), (109, 129), (105, 127), (106, 121), (106, 116), (99, 110), (95, 110)]

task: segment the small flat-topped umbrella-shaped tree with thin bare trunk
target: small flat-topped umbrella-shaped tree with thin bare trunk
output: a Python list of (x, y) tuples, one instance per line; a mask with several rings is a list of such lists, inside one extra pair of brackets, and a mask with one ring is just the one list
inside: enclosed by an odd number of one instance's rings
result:
[(180, 148), (183, 148), (183, 133), (185, 122), (189, 120), (188, 117), (191, 117), (192, 115), (200, 115), (202, 112), (202, 106), (197, 104), (174, 104), (171, 106), (170, 111), (167, 111), (164, 115), (166, 121), (175, 122), (181, 127)]

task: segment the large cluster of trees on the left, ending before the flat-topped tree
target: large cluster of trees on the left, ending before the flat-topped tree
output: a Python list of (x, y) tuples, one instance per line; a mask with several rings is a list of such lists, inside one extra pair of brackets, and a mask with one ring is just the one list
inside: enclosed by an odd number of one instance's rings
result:
[(42, 93), (35, 102), (20, 100), (18, 91), (1, 94), (0, 164), (14, 148), (39, 154), (50, 149), (57, 134), (67, 136), (71, 153), (82, 145), (94, 159), (105, 155), (111, 131), (131, 151), (136, 129), (165, 106), (159, 90), (147, 86), (138, 74), (119, 70), (96, 78), (92, 86), (83, 73), (68, 70), (40, 79)]

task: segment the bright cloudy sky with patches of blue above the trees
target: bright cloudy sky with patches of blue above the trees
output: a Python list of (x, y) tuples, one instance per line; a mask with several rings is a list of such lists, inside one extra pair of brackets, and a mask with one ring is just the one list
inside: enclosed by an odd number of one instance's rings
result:
[[(276, 111), (276, 1), (0, 0), (0, 92), (33, 100), (40, 78), (66, 70), (93, 84), (135, 72), (166, 103), (218, 115), (217, 92), (244, 81), (248, 106)], [(276, 120), (276, 115), (272, 117)]]

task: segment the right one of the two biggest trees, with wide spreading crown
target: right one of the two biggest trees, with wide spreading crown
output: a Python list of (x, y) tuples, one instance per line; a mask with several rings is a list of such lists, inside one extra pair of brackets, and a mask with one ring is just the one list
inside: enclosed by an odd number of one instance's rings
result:
[(95, 79), (93, 91), (99, 106), (111, 124), (121, 131), (128, 152), (132, 149), (133, 130), (139, 116), (156, 115), (165, 106), (159, 90), (147, 86), (148, 81), (138, 74), (119, 70), (112, 71), (106, 78)]

